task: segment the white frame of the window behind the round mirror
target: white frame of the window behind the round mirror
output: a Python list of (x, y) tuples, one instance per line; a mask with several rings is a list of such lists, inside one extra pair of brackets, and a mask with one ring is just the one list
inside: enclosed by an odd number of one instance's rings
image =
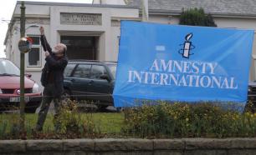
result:
[(26, 54), (26, 67), (42, 67), (42, 47), (41, 47), (41, 42), (40, 42), (40, 35), (36, 34), (29, 34), (27, 35), (28, 37), (38, 37), (39, 38), (39, 44), (32, 44), (31, 48), (38, 48), (39, 52), (39, 64), (38, 65), (29, 65), (29, 54)]

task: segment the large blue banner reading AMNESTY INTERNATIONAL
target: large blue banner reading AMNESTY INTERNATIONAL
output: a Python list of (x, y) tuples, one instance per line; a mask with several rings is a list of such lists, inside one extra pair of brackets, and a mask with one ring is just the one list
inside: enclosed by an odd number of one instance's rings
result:
[(122, 21), (115, 107), (136, 99), (245, 102), (253, 34)]

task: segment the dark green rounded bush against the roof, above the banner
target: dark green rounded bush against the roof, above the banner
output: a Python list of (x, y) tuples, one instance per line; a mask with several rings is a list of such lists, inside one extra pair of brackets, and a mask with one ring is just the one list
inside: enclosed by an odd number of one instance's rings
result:
[(205, 14), (202, 8), (191, 8), (183, 11), (180, 17), (180, 25), (217, 27), (211, 14)]

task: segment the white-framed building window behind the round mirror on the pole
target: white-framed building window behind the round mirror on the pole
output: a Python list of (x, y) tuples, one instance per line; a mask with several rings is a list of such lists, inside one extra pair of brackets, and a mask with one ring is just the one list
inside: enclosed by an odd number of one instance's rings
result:
[(33, 39), (31, 51), (27, 55), (27, 67), (41, 67), (41, 43), (40, 36), (28, 36)]

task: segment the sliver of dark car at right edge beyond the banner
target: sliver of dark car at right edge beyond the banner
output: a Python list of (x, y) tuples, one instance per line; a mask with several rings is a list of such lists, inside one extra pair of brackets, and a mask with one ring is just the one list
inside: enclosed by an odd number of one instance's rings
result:
[(247, 104), (247, 110), (251, 112), (256, 112), (256, 81), (248, 83), (248, 101), (250, 101), (252, 105), (248, 107)]

